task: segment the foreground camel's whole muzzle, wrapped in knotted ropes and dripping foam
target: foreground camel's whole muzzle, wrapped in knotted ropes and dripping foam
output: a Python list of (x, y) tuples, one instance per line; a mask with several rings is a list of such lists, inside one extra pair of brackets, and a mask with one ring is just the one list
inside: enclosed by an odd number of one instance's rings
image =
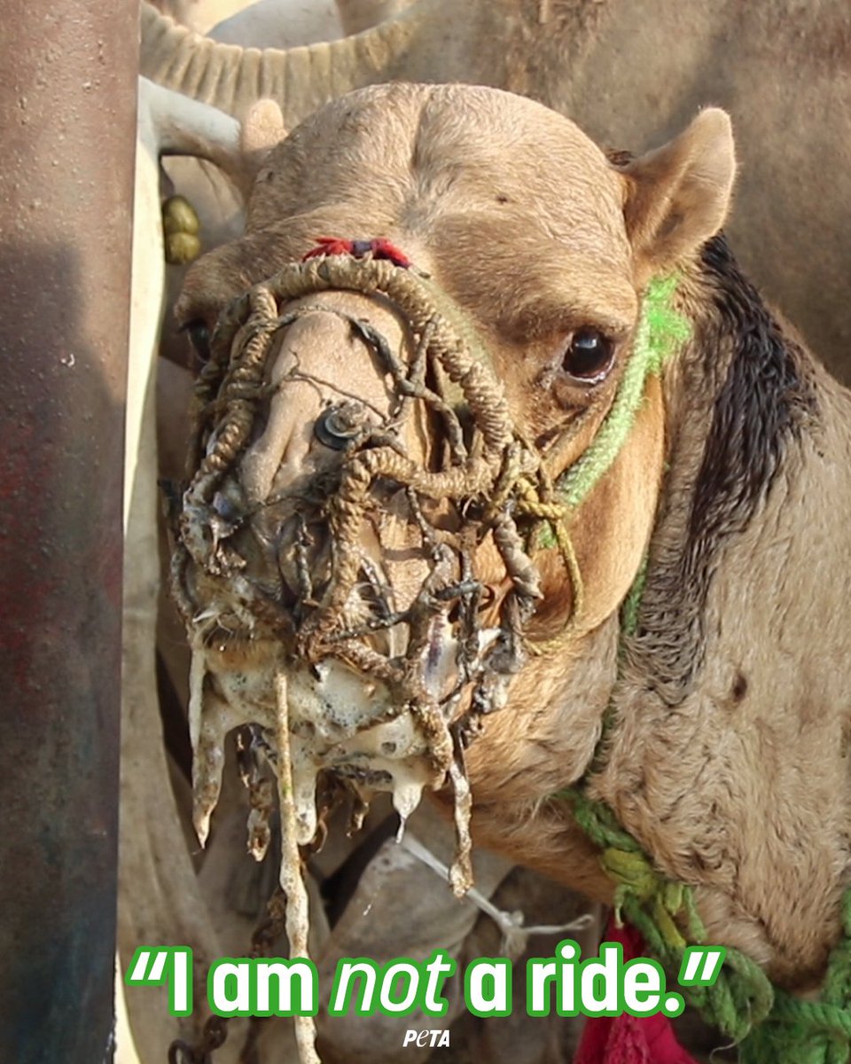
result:
[[(403, 323), (395, 345), (368, 321), (330, 312), (369, 351), (370, 396), (321, 381), (287, 340), (297, 322), (329, 314), (316, 294), (332, 292), (366, 295)], [(301, 420), (297, 412), (283, 440), (273, 414), (279, 403), (294, 416), (298, 403), (282, 398), (294, 381), (331, 392), (321, 409)], [(539, 588), (529, 556), (536, 529), (518, 520), (548, 492), (486, 352), (413, 271), (313, 259), (223, 315), (197, 395), (172, 584), (193, 647), (199, 835), (218, 797), (224, 734), (250, 725), (241, 745), (252, 850), (268, 839), (258, 761), (280, 775), (284, 745), (293, 786), (282, 802), (291, 802), (301, 844), (317, 827), (320, 771), (361, 802), (393, 792), (403, 819), (423, 787), (449, 779), (462, 892), (470, 882), (463, 749), (480, 716), (504, 704), (524, 659)]]

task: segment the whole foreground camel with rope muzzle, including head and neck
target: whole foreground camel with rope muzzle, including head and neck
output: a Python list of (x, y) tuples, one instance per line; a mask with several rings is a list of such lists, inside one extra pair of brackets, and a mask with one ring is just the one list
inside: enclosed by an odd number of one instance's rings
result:
[(851, 399), (720, 235), (727, 114), (612, 160), (511, 94), (387, 85), (255, 157), (178, 305), (207, 361), (174, 563), (199, 835), (250, 721), (290, 853), (330, 769), (402, 821), (437, 791), (458, 892), (471, 794), (477, 843), (612, 902), (581, 786), (707, 942), (818, 986)]

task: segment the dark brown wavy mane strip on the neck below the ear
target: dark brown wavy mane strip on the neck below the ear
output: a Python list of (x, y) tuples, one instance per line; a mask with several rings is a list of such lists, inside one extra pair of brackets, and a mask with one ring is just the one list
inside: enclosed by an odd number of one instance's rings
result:
[[(723, 237), (683, 283), (694, 337), (665, 381), (668, 472), (651, 543), (634, 659), (675, 705), (705, 650), (713, 575), (818, 419), (816, 368), (742, 277)], [(782, 483), (780, 489), (782, 491)]]

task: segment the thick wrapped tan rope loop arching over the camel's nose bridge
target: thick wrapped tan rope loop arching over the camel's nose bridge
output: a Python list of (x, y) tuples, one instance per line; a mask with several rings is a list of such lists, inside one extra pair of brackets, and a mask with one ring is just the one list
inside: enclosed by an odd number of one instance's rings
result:
[[(322, 292), (348, 290), (367, 297), (384, 297), (401, 316), (412, 336), (421, 345), (418, 361), (438, 367), (444, 395), (423, 383), (424, 370), (414, 372), (400, 365), (382, 337), (364, 323), (350, 319), (362, 338), (380, 349), (396, 386), (405, 398), (419, 397), (439, 413), (448, 427), (454, 461), (449, 468), (433, 472), (398, 452), (396, 447), (371, 448), (347, 459), (344, 476), (331, 501), (331, 521), (337, 541), (335, 586), (324, 601), (324, 617), (316, 627), (329, 631), (333, 615), (351, 592), (358, 561), (352, 549), (353, 530), (363, 513), (371, 485), (378, 479), (407, 486), (418, 495), (458, 504), (479, 500), (487, 523), (505, 528), (517, 517), (531, 518), (538, 528), (554, 529), (554, 542), (565, 560), (572, 588), (571, 617), (582, 605), (582, 580), (567, 531), (568, 510), (556, 499), (541, 458), (514, 428), (502, 385), (490, 366), (489, 352), (473, 327), (440, 289), (428, 279), (391, 261), (354, 259), (348, 255), (310, 259), (284, 267), (271, 279), (254, 286), (237, 299), (219, 320), (213, 337), (213, 359), (201, 373), (197, 401), (201, 431), (193, 458), (193, 482), (184, 500), (184, 517), (208, 511), (222, 477), (246, 449), (257, 400), (264, 394), (264, 373), (278, 330), (293, 318), (281, 309), (293, 300)], [(308, 309), (310, 310), (310, 309)], [(404, 376), (411, 371), (412, 380)], [(447, 382), (449, 382), (447, 384)], [(478, 442), (465, 445), (458, 411), (474, 426)], [(218, 420), (218, 423), (217, 422)], [(207, 427), (205, 436), (203, 428)], [(199, 542), (184, 520), (183, 541), (193, 558), (208, 564), (218, 546), (206, 536)], [(534, 569), (527, 544), (545, 536), (502, 536), (511, 541), (505, 558), (510, 576)], [(522, 546), (521, 546), (522, 545)], [(539, 596), (530, 581), (521, 592), (528, 619)], [(538, 647), (522, 633), (515, 642), (533, 652)], [(541, 647), (540, 649), (545, 649)]]

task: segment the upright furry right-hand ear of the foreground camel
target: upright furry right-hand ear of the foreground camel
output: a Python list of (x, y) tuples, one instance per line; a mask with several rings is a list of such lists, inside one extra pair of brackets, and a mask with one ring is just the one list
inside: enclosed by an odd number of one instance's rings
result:
[(651, 270), (697, 250), (723, 225), (736, 172), (730, 116), (702, 111), (664, 147), (625, 167), (624, 217), (632, 246)]

